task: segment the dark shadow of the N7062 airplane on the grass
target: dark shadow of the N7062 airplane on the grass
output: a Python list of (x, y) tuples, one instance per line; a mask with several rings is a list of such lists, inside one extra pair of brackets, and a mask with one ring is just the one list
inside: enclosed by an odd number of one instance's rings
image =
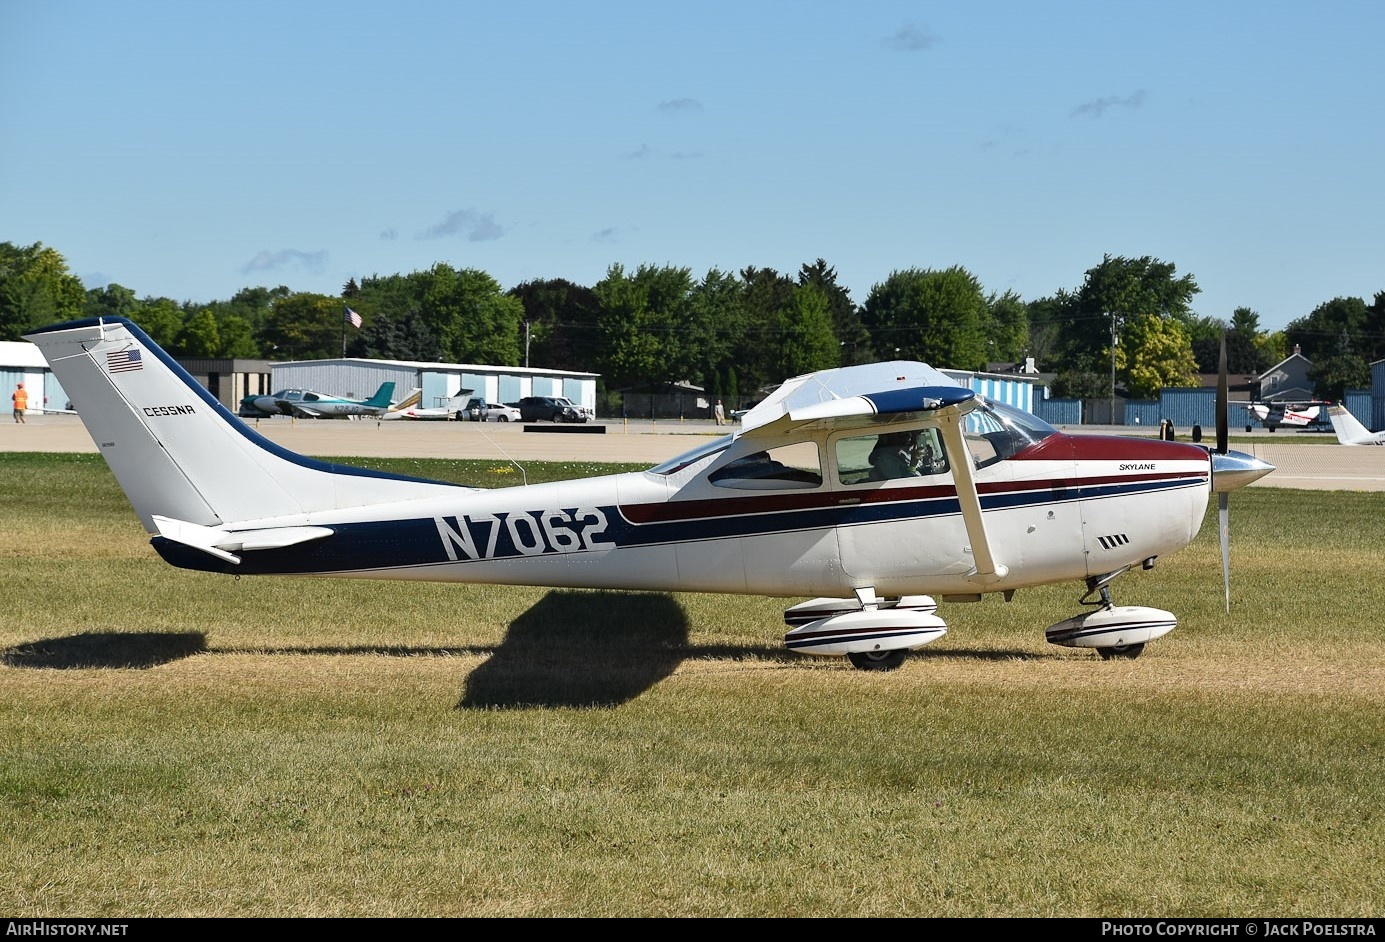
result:
[[(458, 709), (615, 706), (638, 697), (690, 658), (803, 664), (778, 646), (692, 646), (687, 612), (669, 594), (553, 590), (510, 623), (496, 647), (319, 646), (217, 648), (202, 632), (84, 632), (0, 651), (28, 669), (148, 669), (197, 654), (259, 651), (378, 657), (489, 654), (472, 670)], [(924, 658), (1030, 659), (1022, 651), (929, 651)], [(845, 666), (845, 659), (842, 661)]]

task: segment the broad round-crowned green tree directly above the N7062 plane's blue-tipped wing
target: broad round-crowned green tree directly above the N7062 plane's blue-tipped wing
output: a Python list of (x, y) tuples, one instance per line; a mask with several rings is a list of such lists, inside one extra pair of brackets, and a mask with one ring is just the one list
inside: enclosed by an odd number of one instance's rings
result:
[(988, 324), (981, 283), (963, 267), (892, 272), (877, 284), (863, 320), (881, 357), (939, 368), (985, 370)]

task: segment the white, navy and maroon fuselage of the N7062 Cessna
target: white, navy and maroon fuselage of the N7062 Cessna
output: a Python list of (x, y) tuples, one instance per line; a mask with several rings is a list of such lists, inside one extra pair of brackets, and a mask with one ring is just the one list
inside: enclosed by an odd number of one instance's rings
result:
[[(830, 436), (817, 445), (831, 454)], [(1143, 443), (1141, 443), (1143, 442)], [(734, 447), (734, 445), (733, 445)], [(256, 521), (332, 536), (230, 564), (155, 539), (172, 564), (251, 575), (317, 574), (777, 597), (972, 594), (1083, 579), (1186, 546), (1209, 493), (1194, 445), (1057, 435), (976, 472), (989, 542), (1008, 575), (979, 583), (951, 475), (853, 488), (729, 493), (711, 454), (672, 474), (630, 472), (385, 508)], [(1109, 457), (1107, 457), (1109, 456)]]

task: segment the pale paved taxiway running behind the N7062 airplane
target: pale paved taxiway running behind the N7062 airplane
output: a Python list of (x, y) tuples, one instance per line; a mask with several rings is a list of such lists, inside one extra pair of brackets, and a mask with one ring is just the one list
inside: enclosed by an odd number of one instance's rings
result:
[[(515, 461), (636, 461), (656, 464), (695, 447), (717, 432), (711, 421), (609, 421), (604, 434), (571, 431), (573, 427), (522, 425), (515, 423), (377, 421), (323, 418), (263, 418), (248, 424), (265, 438), (314, 457), (434, 457), (512, 459)], [(548, 431), (525, 431), (543, 428)], [(576, 427), (582, 428), (582, 427)], [(561, 431), (560, 431), (561, 429)], [(1066, 431), (1109, 432), (1109, 428)], [(1119, 429), (1130, 434), (1130, 429)], [(1278, 438), (1288, 434), (1278, 432)], [(1276, 441), (1252, 434), (1231, 447), (1265, 459), (1274, 474), (1252, 488), (1305, 490), (1385, 490), (1385, 447)], [(1186, 441), (1186, 439), (1184, 439)], [(1206, 442), (1204, 442), (1206, 443)], [(0, 425), (0, 452), (78, 452), (97, 447), (78, 416), (29, 416), (24, 425)]]

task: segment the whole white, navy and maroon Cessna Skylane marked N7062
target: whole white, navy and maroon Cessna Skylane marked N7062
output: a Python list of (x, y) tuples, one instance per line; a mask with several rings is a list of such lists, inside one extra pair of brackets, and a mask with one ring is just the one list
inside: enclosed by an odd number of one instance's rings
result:
[[(939, 601), (1066, 580), (1086, 611), (1047, 640), (1136, 657), (1177, 618), (1115, 605), (1109, 583), (1186, 547), (1216, 493), (1230, 608), (1227, 493), (1274, 470), (1226, 449), (1224, 350), (1215, 449), (1066, 435), (889, 362), (791, 378), (735, 431), (645, 471), (482, 489), (288, 452), (125, 319), (26, 339), (172, 565), (802, 597), (788, 648), (866, 670), (942, 637)], [(873, 472), (886, 452), (909, 477)]]

